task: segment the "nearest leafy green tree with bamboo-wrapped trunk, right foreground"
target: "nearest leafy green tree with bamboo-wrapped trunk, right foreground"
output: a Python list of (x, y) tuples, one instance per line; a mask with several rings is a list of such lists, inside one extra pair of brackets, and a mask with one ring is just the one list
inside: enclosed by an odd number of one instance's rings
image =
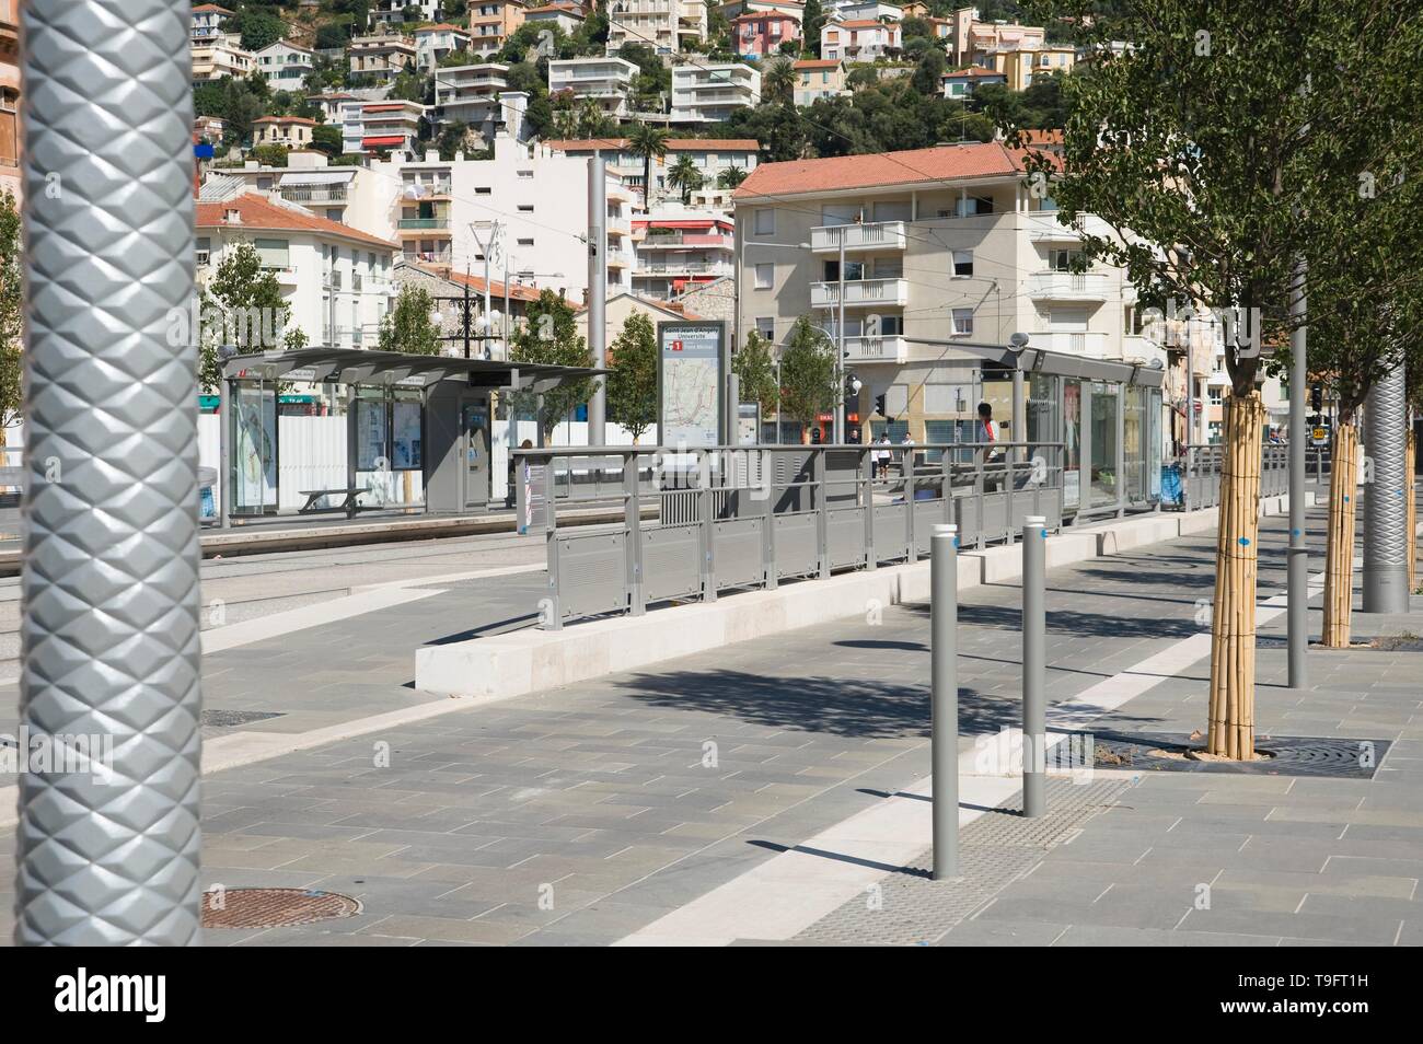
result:
[[(1288, 334), (1295, 260), (1349, 235), (1348, 193), (1322, 166), (1339, 156), (1389, 166), (1387, 129), (1416, 105), (1405, 55), (1420, 46), (1419, 21), (1402, 4), (1365, 0), (1123, 0), (1083, 20), (1089, 6), (1069, 4), (1093, 60), (1062, 84), (1062, 169), (1027, 154), (1027, 188), (1050, 188), (1063, 222), (1094, 213), (1109, 226), (1083, 238), (1076, 267), (1109, 260), (1143, 299), (1225, 320), (1207, 751), (1249, 760), (1261, 346)], [(1113, 40), (1133, 46), (1113, 51)], [(1006, 129), (1022, 144), (1019, 128)]]

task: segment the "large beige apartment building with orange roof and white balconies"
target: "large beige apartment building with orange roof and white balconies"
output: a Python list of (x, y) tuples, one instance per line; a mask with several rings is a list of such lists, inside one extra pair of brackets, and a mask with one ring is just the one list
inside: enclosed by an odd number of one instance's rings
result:
[(800, 316), (838, 336), (844, 286), (847, 361), (865, 383), (859, 414), (884, 394), (916, 441), (943, 441), (936, 425), (973, 418), (972, 395), (935, 366), (952, 354), (943, 340), (1007, 344), (1022, 331), (1077, 356), (1164, 361), (1131, 326), (1136, 294), (1120, 270), (1070, 270), (1083, 232), (1106, 226), (1063, 226), (1000, 142), (763, 164), (734, 203), (741, 339), (754, 330), (781, 341)]

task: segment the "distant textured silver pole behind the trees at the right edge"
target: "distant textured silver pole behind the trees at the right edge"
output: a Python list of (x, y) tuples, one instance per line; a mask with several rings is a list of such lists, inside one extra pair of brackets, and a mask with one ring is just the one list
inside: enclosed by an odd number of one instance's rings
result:
[(1363, 612), (1409, 612), (1409, 540), (1403, 475), (1403, 364), (1373, 385), (1365, 404), (1373, 484), (1363, 498)]

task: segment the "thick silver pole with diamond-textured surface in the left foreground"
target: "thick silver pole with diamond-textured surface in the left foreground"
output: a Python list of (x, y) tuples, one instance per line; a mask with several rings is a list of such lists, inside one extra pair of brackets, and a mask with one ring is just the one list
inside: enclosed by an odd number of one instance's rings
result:
[(191, 944), (198, 360), (169, 336), (194, 294), (189, 3), (30, 0), (21, 26), (20, 721), (112, 752), (21, 774), (14, 937)]

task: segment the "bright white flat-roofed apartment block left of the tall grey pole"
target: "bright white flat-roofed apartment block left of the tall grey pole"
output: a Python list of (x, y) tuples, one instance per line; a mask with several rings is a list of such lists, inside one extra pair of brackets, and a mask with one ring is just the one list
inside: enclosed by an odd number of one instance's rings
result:
[[(522, 95), (519, 95), (522, 98)], [(515, 100), (517, 101), (517, 100)], [(505, 124), (517, 121), (509, 114)], [(491, 222), (498, 220), (501, 253), (492, 259), (502, 279), (565, 293), (575, 303), (588, 289), (588, 164), (514, 134), (494, 139), (492, 159), (441, 161), (407, 155), (371, 164), (387, 195), (390, 238), (407, 260), (482, 275)], [(608, 287), (630, 289), (635, 196), (608, 176)], [(491, 276), (494, 273), (491, 272)]]

